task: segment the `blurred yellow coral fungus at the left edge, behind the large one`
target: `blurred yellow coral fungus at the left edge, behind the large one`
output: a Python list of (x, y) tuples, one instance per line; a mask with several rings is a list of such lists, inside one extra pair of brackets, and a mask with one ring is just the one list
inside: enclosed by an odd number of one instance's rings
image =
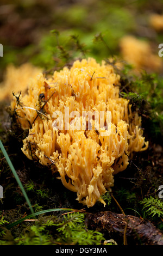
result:
[(18, 93), (27, 89), (29, 77), (33, 78), (40, 74), (42, 70), (29, 63), (20, 67), (10, 64), (4, 75), (4, 81), (0, 84), (0, 101), (11, 100), (12, 92)]

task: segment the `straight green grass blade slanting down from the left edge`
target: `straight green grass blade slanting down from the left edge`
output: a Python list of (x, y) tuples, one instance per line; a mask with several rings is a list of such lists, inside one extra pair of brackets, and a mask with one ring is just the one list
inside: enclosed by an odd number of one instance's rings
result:
[(0, 139), (0, 148), (2, 150), (2, 153), (3, 153), (4, 157), (5, 157), (5, 159), (7, 160), (8, 164), (9, 164), (9, 167), (11, 168), (11, 171), (12, 171), (12, 173), (13, 173), (13, 175), (14, 175), (17, 183), (18, 183), (18, 186), (20, 186), (20, 188), (21, 188), (21, 191), (23, 193), (24, 198), (26, 198), (26, 202), (29, 205), (30, 211), (32, 212), (32, 214), (34, 214), (34, 211), (33, 211), (32, 205), (30, 204), (30, 200), (29, 200), (29, 198), (27, 196), (27, 193), (24, 190), (22, 182), (20, 181), (20, 178), (18, 177), (18, 175), (16, 173), (16, 170), (15, 170), (14, 166), (11, 163), (11, 160), (10, 160), (8, 154), (7, 154), (7, 151), (5, 150), (5, 148), (4, 148), (4, 146), (3, 146), (2, 142), (1, 142), (1, 139)]

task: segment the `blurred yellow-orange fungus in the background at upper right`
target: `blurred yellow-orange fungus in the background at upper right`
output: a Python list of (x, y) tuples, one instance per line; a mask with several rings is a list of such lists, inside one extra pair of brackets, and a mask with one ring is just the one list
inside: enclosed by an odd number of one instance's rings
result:
[(136, 70), (160, 72), (163, 63), (158, 54), (154, 54), (147, 41), (139, 40), (134, 36), (124, 36), (120, 40), (122, 58), (133, 64)]

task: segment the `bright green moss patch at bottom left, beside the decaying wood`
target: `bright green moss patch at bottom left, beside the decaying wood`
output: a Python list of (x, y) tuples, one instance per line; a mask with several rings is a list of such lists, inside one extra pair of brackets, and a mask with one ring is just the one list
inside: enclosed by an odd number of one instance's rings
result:
[(54, 216), (42, 216), (15, 237), (3, 229), (8, 222), (2, 217), (0, 245), (101, 245), (103, 234), (87, 229), (84, 218), (85, 214), (76, 212), (64, 215), (63, 220), (57, 223)]

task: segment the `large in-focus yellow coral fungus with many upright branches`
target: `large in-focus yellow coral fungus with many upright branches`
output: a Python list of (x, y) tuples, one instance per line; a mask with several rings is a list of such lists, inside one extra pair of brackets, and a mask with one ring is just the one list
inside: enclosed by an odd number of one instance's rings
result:
[[(105, 205), (101, 196), (114, 185), (114, 174), (126, 169), (133, 151), (148, 148), (141, 117), (120, 97), (119, 85), (111, 65), (89, 58), (48, 79), (40, 74), (20, 96), (21, 106), (16, 99), (11, 102), (18, 123), (29, 129), (23, 153), (51, 164), (62, 184), (87, 207), (97, 200)], [(89, 112), (95, 113), (91, 119)], [(96, 113), (103, 113), (100, 125)]]

